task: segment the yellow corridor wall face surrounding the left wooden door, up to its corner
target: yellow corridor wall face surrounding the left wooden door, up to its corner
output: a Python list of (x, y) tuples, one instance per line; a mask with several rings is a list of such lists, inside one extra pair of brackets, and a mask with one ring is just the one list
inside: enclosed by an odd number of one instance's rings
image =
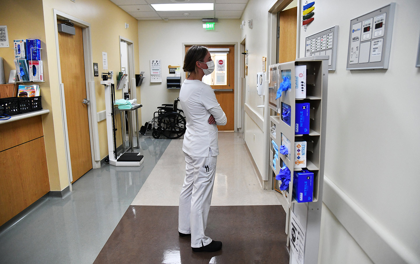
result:
[[(99, 72), (102, 72), (102, 52), (108, 53), (108, 70), (118, 73), (120, 70), (120, 45), (119, 36), (123, 36), (134, 42), (134, 68), (139, 73), (139, 47), (138, 47), (138, 31), (137, 21), (121, 8), (108, 0), (78, 0), (72, 1), (55, 1), (43, 0), (44, 19), (45, 19), (45, 37), (47, 42), (48, 63), (50, 67), (50, 83), (51, 83), (51, 100), (57, 102), (53, 105), (53, 114), (57, 113), (57, 120), (54, 120), (55, 142), (57, 152), (59, 153), (59, 168), (66, 168), (64, 160), (64, 137), (61, 122), (61, 113), (59, 100), (59, 83), (56, 42), (54, 32), (53, 9), (59, 10), (70, 16), (78, 18), (82, 21), (90, 23), (92, 38), (92, 57), (93, 62), (97, 62)], [(129, 28), (125, 29), (125, 23), (129, 23)], [(93, 67), (93, 65), (92, 65)], [(107, 71), (107, 70), (105, 70)], [(100, 85), (100, 77), (95, 77), (95, 90), (97, 100), (97, 111), (105, 110), (105, 95), (103, 85)], [(139, 97), (139, 90), (137, 96)], [(117, 98), (121, 98), (121, 94)], [(93, 113), (95, 114), (95, 113)], [(117, 116), (118, 117), (118, 116)], [(117, 119), (118, 120), (118, 119)], [(105, 120), (98, 123), (100, 155), (104, 158), (108, 155), (107, 132)], [(60, 156), (61, 154), (61, 156)], [(50, 176), (51, 177), (51, 176)], [(60, 187), (56, 189), (63, 190), (68, 186), (66, 171), (59, 173)]]

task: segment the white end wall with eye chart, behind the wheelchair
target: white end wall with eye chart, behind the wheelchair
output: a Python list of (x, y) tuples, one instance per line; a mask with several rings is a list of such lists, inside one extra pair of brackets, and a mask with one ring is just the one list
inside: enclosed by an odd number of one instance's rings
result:
[[(184, 63), (183, 43), (239, 43), (238, 19), (220, 19), (215, 31), (204, 31), (201, 20), (139, 21), (140, 71), (144, 71), (141, 88), (142, 123), (152, 119), (157, 106), (173, 103), (179, 90), (166, 89), (168, 65)], [(236, 46), (239, 49), (239, 46)], [(237, 54), (239, 51), (236, 51)], [(150, 83), (150, 60), (161, 60), (162, 83)], [(236, 62), (238, 63), (238, 62)], [(185, 72), (181, 71), (185, 76)]]

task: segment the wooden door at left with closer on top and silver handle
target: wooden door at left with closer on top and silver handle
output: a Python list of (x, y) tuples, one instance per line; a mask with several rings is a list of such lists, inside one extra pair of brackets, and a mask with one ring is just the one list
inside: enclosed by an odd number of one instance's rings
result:
[(66, 98), (68, 143), (73, 172), (72, 182), (92, 168), (87, 105), (82, 103), (83, 99), (87, 98), (82, 28), (74, 27), (76, 35), (58, 33), (61, 81), (64, 83)]

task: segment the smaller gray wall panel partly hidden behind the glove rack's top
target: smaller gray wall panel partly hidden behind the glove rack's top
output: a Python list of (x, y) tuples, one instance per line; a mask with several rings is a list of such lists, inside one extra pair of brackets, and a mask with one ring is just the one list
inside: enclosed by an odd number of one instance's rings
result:
[(339, 26), (333, 26), (306, 37), (305, 57), (329, 55), (328, 70), (336, 70), (338, 33)]

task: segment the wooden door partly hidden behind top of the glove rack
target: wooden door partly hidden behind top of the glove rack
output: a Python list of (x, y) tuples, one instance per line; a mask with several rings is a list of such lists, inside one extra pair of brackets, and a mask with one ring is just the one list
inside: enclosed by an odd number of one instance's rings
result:
[(297, 7), (279, 13), (278, 62), (296, 60)]

